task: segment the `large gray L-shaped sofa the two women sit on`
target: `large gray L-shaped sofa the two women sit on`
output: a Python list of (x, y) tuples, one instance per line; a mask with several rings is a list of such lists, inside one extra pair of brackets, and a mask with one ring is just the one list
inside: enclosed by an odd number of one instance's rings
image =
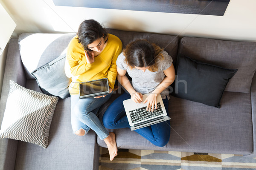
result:
[[(171, 135), (164, 147), (156, 147), (130, 129), (109, 130), (116, 133), (118, 148), (168, 150), (193, 153), (232, 153), (256, 157), (256, 42), (232, 42), (206, 38), (183, 37), (108, 29), (125, 47), (138, 38), (163, 47), (176, 64), (177, 54), (193, 59), (237, 68), (220, 101), (220, 108), (170, 95)], [(62, 34), (44, 50), (38, 67), (58, 57), (75, 34)], [(33, 42), (36, 43), (36, 42)], [(9, 93), (9, 80), (40, 91), (35, 78), (24, 67), (17, 39), (11, 39), (0, 99), (2, 122)], [(170, 87), (170, 90), (174, 89)], [(101, 118), (108, 105), (123, 93), (119, 88), (102, 105)], [(207, 95), (207, 94), (206, 94)], [(49, 129), (49, 145), (38, 145), (13, 139), (0, 139), (1, 170), (96, 170), (99, 146), (106, 147), (93, 130), (86, 136), (73, 134), (70, 124), (70, 97), (59, 99)]]

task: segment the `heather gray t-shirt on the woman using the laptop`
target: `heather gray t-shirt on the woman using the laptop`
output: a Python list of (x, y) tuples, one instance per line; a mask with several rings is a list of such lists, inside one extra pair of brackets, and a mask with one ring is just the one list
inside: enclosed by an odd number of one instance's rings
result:
[[(143, 72), (142, 70), (138, 70), (137, 68), (130, 69), (130, 67), (125, 62), (125, 56), (123, 53), (119, 54), (116, 65), (122, 70), (126, 70), (129, 76), (132, 78), (131, 85), (134, 90), (141, 94), (148, 94), (151, 91), (154, 91), (155, 88), (162, 82), (165, 77), (163, 73), (164, 70), (169, 68), (172, 65), (172, 57), (168, 55), (166, 51), (162, 52), (163, 58), (159, 57), (157, 60), (157, 68), (158, 70), (155, 72), (151, 72), (148, 69)], [(166, 88), (161, 93), (162, 99), (166, 99), (166, 96), (169, 100), (169, 91)]]

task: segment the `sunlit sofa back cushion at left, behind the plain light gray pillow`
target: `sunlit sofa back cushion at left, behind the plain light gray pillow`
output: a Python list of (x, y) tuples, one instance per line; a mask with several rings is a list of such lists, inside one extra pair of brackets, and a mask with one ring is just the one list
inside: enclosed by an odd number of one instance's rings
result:
[(75, 35), (76, 33), (20, 34), (18, 44), (20, 57), (26, 70), (26, 77), (33, 79), (32, 71), (66, 53), (67, 45)]

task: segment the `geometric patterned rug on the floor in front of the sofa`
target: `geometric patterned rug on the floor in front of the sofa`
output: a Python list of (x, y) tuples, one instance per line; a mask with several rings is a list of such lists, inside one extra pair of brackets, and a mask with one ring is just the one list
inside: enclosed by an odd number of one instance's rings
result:
[(100, 147), (99, 170), (256, 170), (256, 158), (234, 154), (119, 149), (109, 160)]

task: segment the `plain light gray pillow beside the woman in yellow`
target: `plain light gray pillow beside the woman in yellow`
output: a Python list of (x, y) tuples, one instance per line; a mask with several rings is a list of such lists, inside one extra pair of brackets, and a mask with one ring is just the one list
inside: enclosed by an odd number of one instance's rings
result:
[(35, 77), (39, 88), (44, 94), (58, 96), (62, 99), (70, 96), (68, 87), (72, 80), (65, 74), (65, 59), (66, 54), (62, 54), (32, 71), (31, 74)]

